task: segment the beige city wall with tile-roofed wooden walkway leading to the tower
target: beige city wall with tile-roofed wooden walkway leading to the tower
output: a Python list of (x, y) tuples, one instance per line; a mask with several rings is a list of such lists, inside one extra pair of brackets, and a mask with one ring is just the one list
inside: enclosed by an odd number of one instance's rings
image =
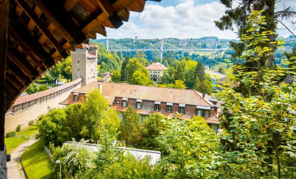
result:
[(48, 109), (60, 108), (60, 102), (67, 99), (71, 91), (81, 87), (82, 78), (61, 86), (27, 96), (18, 97), (5, 116), (5, 132), (13, 131), (17, 125), (27, 127), (28, 122), (46, 114)]

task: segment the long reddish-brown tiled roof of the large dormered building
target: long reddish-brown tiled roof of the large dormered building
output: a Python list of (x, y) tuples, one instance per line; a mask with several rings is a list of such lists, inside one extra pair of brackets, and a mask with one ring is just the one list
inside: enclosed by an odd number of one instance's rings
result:
[[(72, 93), (88, 94), (93, 89), (98, 88), (99, 82), (92, 82)], [(199, 106), (213, 106), (213, 103), (202, 97), (202, 95), (193, 89), (176, 89), (156, 86), (142, 86), (126, 83), (105, 83), (103, 85), (103, 95), (108, 97), (112, 104), (114, 98), (125, 97), (132, 99), (142, 99), (150, 101), (162, 101), (178, 104), (189, 104)]]

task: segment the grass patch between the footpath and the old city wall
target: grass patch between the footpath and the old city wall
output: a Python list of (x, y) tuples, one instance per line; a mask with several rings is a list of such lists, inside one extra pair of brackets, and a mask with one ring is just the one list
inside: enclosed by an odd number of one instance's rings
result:
[(11, 151), (16, 148), (19, 144), (26, 142), (27, 138), (32, 138), (36, 133), (38, 132), (38, 129), (36, 126), (28, 127), (27, 129), (24, 129), (24, 136), (23, 137), (23, 131), (17, 132), (16, 137), (12, 138), (5, 138), (5, 145), (7, 149), (7, 154), (11, 153)]

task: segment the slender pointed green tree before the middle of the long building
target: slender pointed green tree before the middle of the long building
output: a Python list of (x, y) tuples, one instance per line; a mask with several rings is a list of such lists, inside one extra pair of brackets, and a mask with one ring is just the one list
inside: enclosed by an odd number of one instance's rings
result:
[(126, 141), (126, 147), (128, 144), (138, 144), (141, 139), (141, 130), (140, 115), (129, 106), (120, 123), (120, 139)]

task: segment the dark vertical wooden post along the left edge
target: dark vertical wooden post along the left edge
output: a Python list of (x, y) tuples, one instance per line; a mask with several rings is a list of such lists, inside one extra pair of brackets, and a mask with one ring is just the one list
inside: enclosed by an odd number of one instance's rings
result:
[[(6, 60), (9, 25), (9, 1), (0, 0), (0, 150), (4, 151), (5, 113), (6, 113)], [(8, 108), (7, 108), (8, 109)], [(1, 166), (6, 166), (2, 163)], [(0, 175), (0, 177), (5, 177)]]

